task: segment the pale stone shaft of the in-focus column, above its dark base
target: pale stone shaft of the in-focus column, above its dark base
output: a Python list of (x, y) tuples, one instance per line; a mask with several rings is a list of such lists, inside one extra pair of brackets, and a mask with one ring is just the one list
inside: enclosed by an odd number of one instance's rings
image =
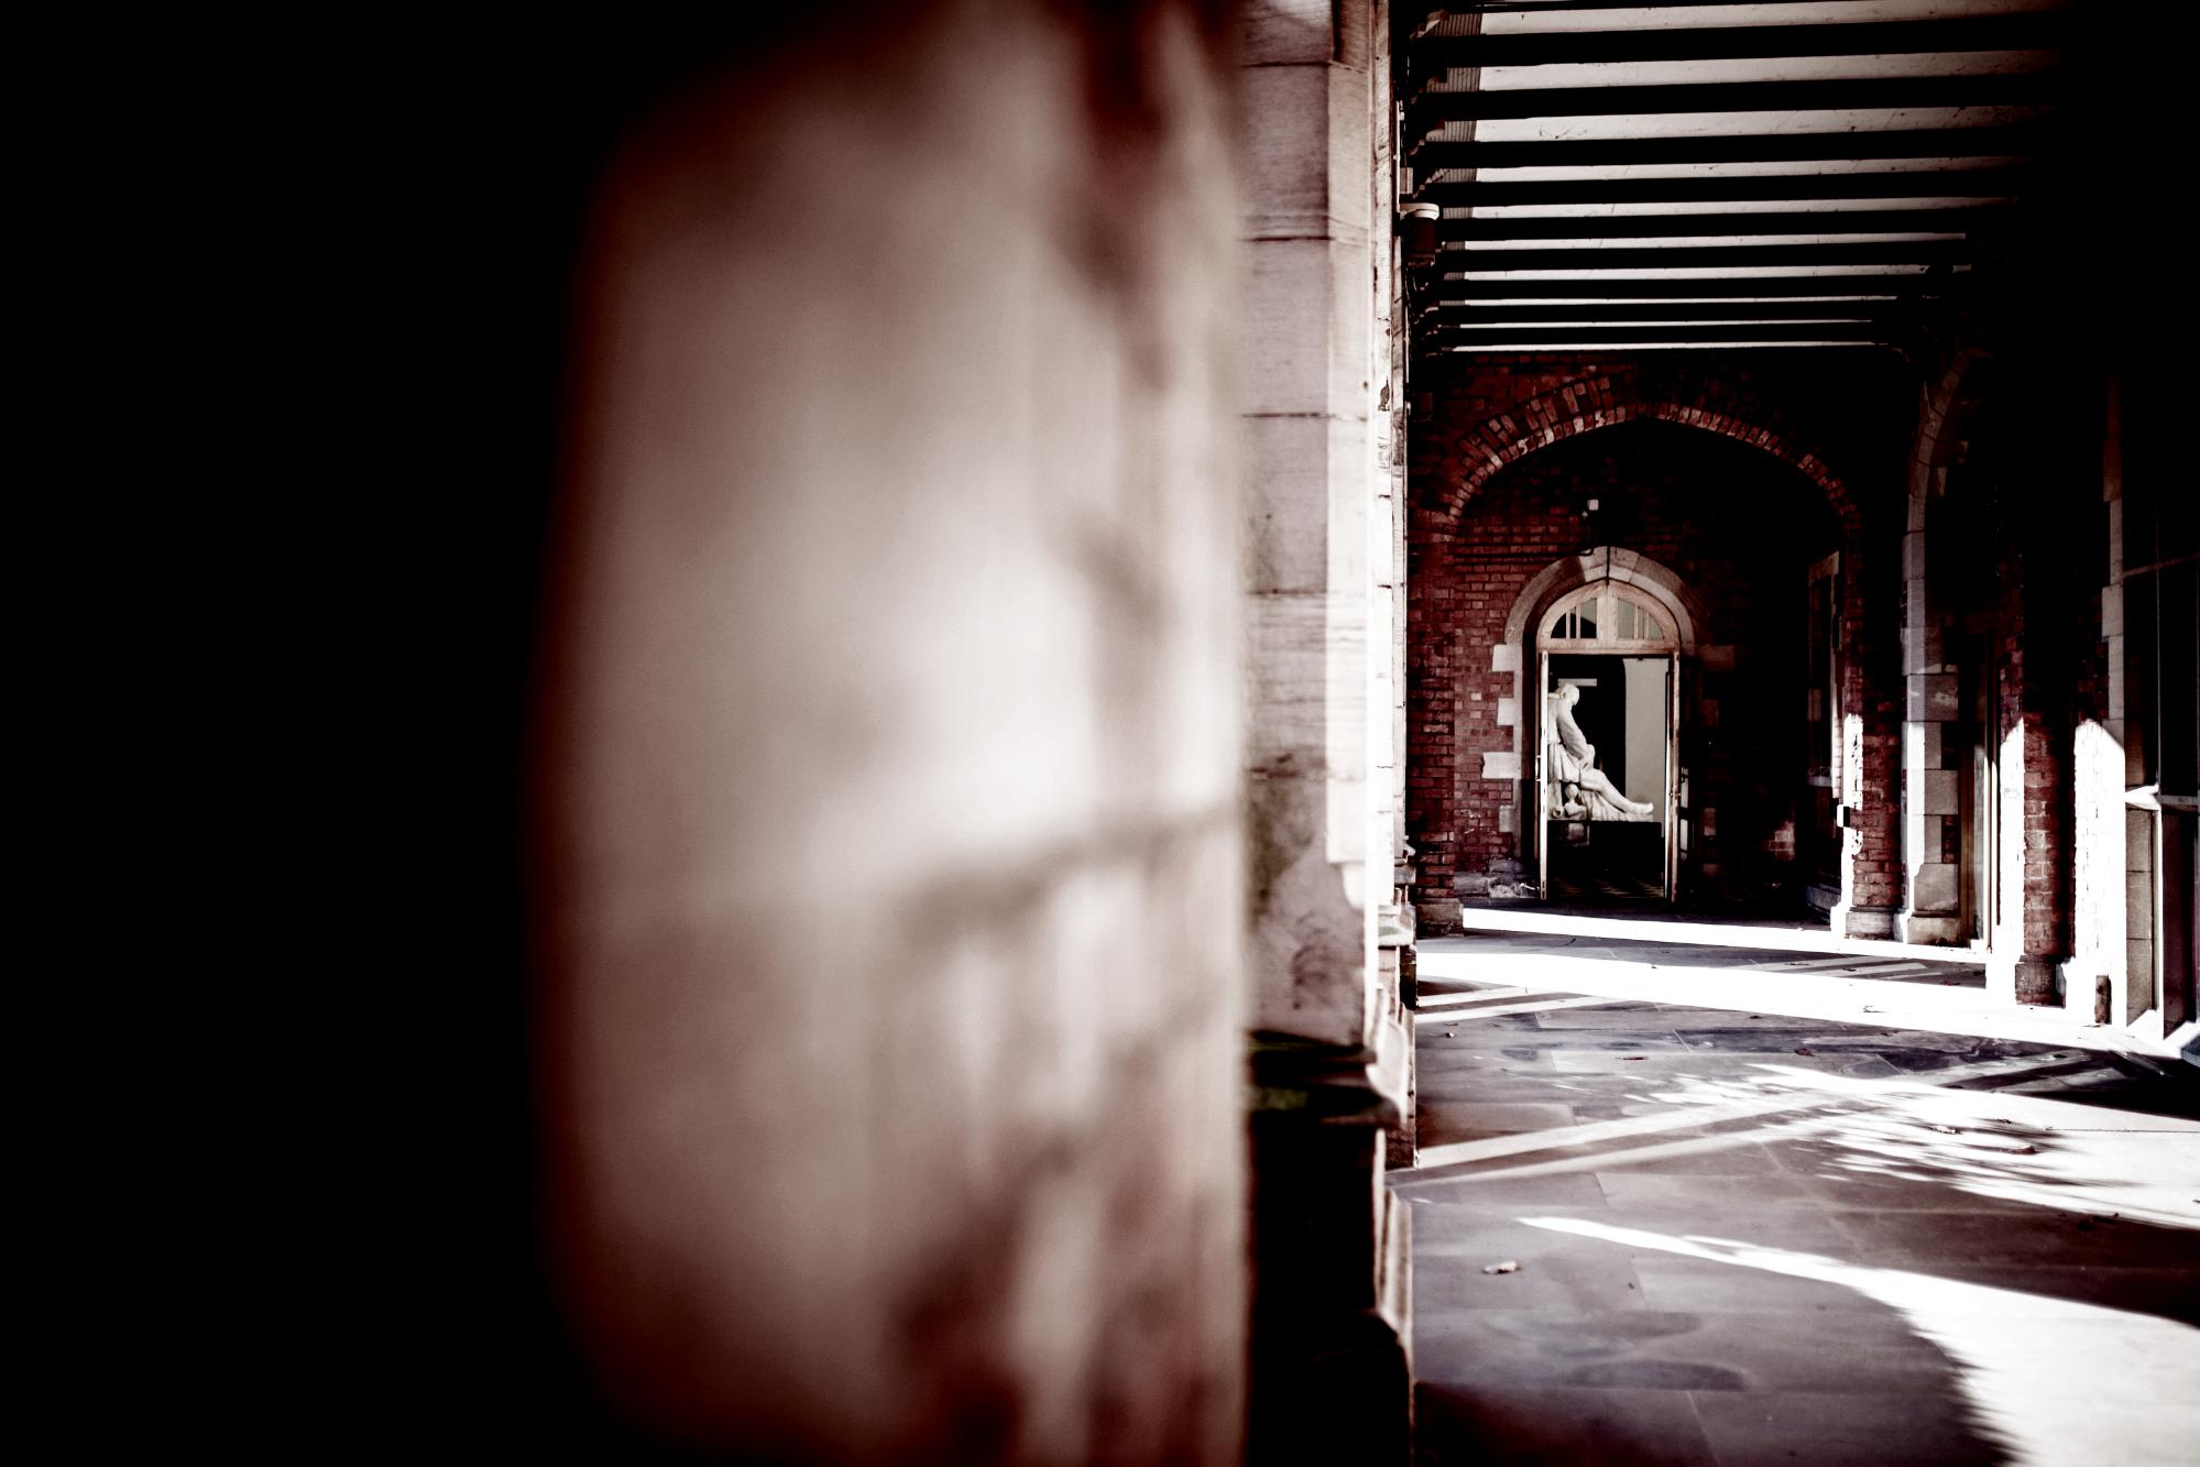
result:
[(1245, 11), (1245, 620), (1256, 1029), (1368, 1036), (1371, 70), (1360, 7)]

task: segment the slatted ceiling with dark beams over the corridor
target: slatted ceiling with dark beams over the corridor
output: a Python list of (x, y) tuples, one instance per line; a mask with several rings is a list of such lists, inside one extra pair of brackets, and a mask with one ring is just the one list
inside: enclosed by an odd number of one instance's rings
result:
[(2064, 0), (1463, 4), (1399, 26), (1415, 350), (1896, 345), (2026, 249)]

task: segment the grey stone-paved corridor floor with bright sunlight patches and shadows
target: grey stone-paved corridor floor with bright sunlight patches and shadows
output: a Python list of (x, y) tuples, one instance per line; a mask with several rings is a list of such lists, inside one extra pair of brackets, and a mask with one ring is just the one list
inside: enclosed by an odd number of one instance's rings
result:
[(1511, 933), (1419, 970), (1423, 1463), (2200, 1460), (2167, 1051), (1910, 955)]

